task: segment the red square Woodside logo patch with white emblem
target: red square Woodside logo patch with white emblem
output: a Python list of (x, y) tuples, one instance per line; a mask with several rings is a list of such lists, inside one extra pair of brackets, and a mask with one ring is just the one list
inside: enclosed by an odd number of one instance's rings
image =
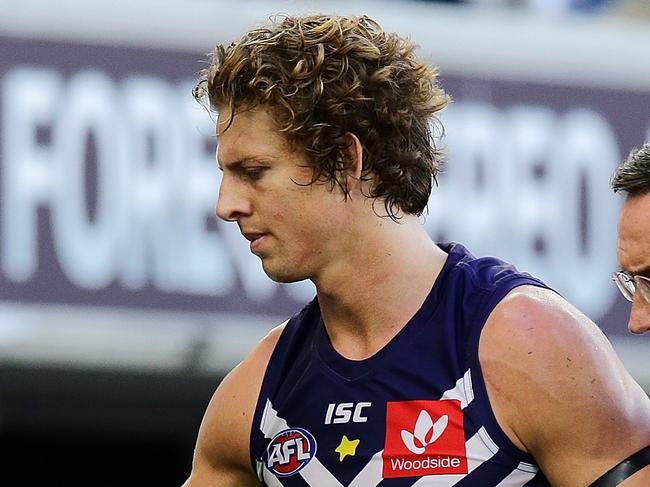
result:
[(466, 474), (460, 402), (388, 402), (382, 457), (384, 478)]

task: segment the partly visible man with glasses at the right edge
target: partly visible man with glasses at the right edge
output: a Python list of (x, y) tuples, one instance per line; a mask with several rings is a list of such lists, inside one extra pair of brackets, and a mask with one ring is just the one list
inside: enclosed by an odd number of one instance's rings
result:
[(612, 189), (626, 193), (618, 223), (621, 270), (612, 278), (632, 303), (628, 329), (644, 333), (650, 330), (650, 143), (616, 169)]

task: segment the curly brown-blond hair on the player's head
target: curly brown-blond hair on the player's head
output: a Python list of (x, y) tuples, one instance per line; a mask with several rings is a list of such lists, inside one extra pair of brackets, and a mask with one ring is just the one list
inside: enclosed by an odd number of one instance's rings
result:
[(217, 45), (194, 96), (207, 95), (213, 110), (226, 106), (232, 116), (271, 110), (313, 164), (312, 183), (330, 181), (346, 196), (345, 134), (353, 133), (363, 147), (362, 177), (375, 180), (369, 196), (383, 199), (392, 218), (398, 210), (420, 215), (442, 163), (435, 114), (449, 97), (414, 51), (366, 16), (278, 17)]

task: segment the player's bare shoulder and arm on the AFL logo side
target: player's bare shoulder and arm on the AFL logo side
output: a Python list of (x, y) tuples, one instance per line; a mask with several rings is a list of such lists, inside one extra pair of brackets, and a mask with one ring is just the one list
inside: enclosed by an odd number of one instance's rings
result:
[(286, 323), (273, 328), (219, 384), (201, 422), (186, 487), (260, 485), (250, 466), (250, 429), (266, 367)]

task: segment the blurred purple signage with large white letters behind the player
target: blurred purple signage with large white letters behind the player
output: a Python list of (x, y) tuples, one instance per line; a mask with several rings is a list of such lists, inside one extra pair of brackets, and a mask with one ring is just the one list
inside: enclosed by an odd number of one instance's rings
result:
[[(174, 369), (199, 340), (201, 366), (227, 370), (313, 296), (309, 283), (266, 278), (236, 226), (214, 217), (216, 138), (193, 80), (214, 43), (273, 11), (228, 4), (224, 15), (224, 5), (201, 4), (210, 22), (189, 39), (187, 10), (163, 8), (155, 31), (106, 9), (101, 22), (77, 11), (46, 29), (58, 15), (48, 8), (3, 11), (0, 360)], [(334, 7), (411, 35), (440, 66), (454, 102), (423, 217), (432, 237), (513, 262), (627, 341), (609, 278), (621, 199), (608, 182), (650, 135), (647, 29)], [(73, 21), (81, 27), (67, 30)], [(111, 340), (123, 354), (102, 352)], [(153, 343), (164, 359), (143, 353)]]

